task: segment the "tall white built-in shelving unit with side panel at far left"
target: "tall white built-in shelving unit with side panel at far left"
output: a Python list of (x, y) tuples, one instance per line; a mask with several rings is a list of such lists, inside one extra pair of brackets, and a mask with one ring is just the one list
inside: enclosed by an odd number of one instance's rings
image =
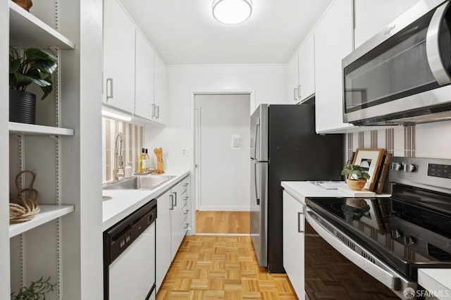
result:
[[(58, 59), (54, 92), (37, 106), (37, 120), (47, 126), (13, 123), (8, 56), (0, 49), (0, 166), (9, 168), (0, 176), (0, 299), (40, 276), (56, 283), (49, 299), (103, 298), (101, 201), (89, 201), (101, 198), (102, 4), (34, 1), (27, 12), (0, 1), (0, 38), (21, 49), (51, 49)], [(20, 170), (36, 173), (41, 211), (9, 225), (8, 199)], [(30, 178), (22, 180), (27, 187)]]

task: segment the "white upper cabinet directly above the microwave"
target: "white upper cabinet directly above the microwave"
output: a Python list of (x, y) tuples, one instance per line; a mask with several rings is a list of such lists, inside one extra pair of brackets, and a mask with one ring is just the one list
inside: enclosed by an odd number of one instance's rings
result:
[(362, 45), (419, 0), (354, 1), (354, 45)]

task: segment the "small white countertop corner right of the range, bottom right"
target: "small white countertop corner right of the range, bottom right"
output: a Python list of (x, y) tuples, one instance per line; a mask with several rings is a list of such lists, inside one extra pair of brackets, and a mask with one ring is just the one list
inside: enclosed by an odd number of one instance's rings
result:
[(419, 269), (418, 284), (436, 299), (451, 299), (451, 269)]

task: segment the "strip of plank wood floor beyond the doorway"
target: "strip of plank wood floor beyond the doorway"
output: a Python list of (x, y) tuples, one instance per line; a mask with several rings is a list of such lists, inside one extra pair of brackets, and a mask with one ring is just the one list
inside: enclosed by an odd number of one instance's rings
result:
[(250, 234), (249, 211), (196, 211), (197, 233)]

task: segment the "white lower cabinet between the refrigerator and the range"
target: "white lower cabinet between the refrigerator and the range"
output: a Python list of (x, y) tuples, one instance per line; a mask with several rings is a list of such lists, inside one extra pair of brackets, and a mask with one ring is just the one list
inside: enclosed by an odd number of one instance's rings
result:
[(304, 206), (283, 191), (283, 268), (295, 289), (304, 299)]

